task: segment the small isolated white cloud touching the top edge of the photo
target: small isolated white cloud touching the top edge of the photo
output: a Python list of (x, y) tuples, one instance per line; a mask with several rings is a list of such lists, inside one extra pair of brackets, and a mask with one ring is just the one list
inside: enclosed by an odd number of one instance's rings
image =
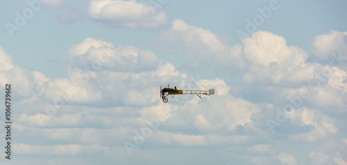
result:
[(128, 28), (157, 28), (166, 24), (164, 12), (153, 12), (153, 7), (135, 0), (93, 0), (89, 14), (92, 19), (110, 26)]

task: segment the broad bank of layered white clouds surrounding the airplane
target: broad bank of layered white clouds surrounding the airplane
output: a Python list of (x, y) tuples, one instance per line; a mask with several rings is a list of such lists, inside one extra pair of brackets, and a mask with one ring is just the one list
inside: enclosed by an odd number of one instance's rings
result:
[[(6, 82), (17, 83), (14, 129), (18, 154), (96, 155), (97, 159), (107, 155), (103, 158), (113, 161), (111, 155), (128, 156), (124, 141), (133, 143), (144, 137), (143, 128), (151, 129), (149, 121), (163, 113), (167, 119), (158, 121), (151, 136), (137, 145), (133, 159), (151, 159), (158, 150), (170, 153), (169, 157), (177, 150), (201, 154), (201, 148), (206, 148), (217, 150), (220, 158), (231, 155), (244, 164), (346, 164), (339, 153), (346, 153), (340, 145), (347, 140), (335, 141), (346, 134), (341, 131), (347, 98), (344, 69), (307, 62), (310, 53), (264, 31), (228, 46), (211, 31), (178, 19), (162, 37), (201, 52), (194, 58), (215, 60), (221, 70), (228, 62), (242, 62), (234, 67), (244, 69), (244, 74), (235, 76), (234, 83), (218, 76), (194, 78), (153, 51), (88, 37), (69, 49), (67, 78), (49, 78), (15, 66), (0, 49), (0, 83), (2, 87)], [(164, 104), (158, 87), (167, 84), (182, 89), (213, 88), (216, 94), (202, 99), (175, 96)], [(285, 133), (271, 134), (266, 119), (277, 120), (274, 109), (293, 103), (303, 91), (310, 97), (302, 98), (300, 104), (296, 100), (297, 107), (283, 112), (287, 121), (279, 122), (278, 130)], [(302, 157), (289, 154), (296, 148), (303, 148)], [(137, 157), (136, 152), (146, 157)]]

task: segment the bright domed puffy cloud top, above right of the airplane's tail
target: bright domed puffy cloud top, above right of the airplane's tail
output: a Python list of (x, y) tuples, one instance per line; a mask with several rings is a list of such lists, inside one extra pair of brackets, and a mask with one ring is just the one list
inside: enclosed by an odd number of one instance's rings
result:
[(316, 67), (305, 64), (308, 55), (285, 39), (265, 31), (257, 31), (243, 40), (248, 71), (245, 83), (307, 83)]

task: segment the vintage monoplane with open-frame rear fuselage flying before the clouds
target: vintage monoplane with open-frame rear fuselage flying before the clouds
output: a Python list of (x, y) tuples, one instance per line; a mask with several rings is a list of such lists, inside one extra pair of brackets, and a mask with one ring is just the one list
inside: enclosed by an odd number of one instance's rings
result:
[(208, 91), (201, 91), (201, 90), (185, 90), (185, 89), (177, 89), (176, 87), (172, 88), (170, 85), (167, 85), (167, 87), (164, 87), (162, 89), (162, 86), (160, 86), (160, 98), (162, 98), (162, 102), (167, 103), (169, 99), (167, 99), (167, 96), (171, 95), (172, 98), (175, 97), (176, 94), (196, 94), (199, 98), (201, 98), (201, 94), (205, 95), (213, 95), (214, 89), (209, 89)]

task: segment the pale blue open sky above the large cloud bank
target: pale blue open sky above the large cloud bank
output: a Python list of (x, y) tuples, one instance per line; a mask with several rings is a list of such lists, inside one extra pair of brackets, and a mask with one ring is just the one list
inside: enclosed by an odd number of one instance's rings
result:
[[(1, 24), (14, 24), (15, 12), (28, 8), (26, 1), (6, 3), (6, 8), (1, 9)], [(153, 40), (166, 27), (110, 28), (88, 19), (89, 1), (65, 3), (67, 7), (64, 8), (42, 8), (35, 12), (24, 27), (14, 32), (13, 37), (6, 33), (6, 26), (2, 26), (1, 45), (12, 55), (16, 64), (63, 78), (67, 62), (66, 50), (86, 37), (155, 51), (156, 42)], [(310, 44), (316, 35), (328, 33), (331, 29), (344, 31), (347, 24), (346, 18), (341, 15), (346, 7), (344, 1), (314, 1), (314, 7), (312, 1), (278, 1), (278, 5), (279, 9), (273, 10), (271, 17), (265, 19), (261, 26), (257, 26), (257, 30), (281, 35), (289, 45), (299, 46), (305, 51), (310, 51)], [(160, 10), (167, 14), (168, 23), (174, 19), (183, 19), (187, 24), (208, 29), (220, 35), (227, 44), (235, 45), (240, 43), (235, 31), (244, 31), (246, 19), (253, 19), (255, 15), (259, 15), (256, 9), (266, 6), (269, 6), (269, 1), (168, 1)], [(77, 18), (75, 24), (60, 24), (58, 17), (65, 13), (78, 13), (80, 18)], [(141, 37), (138, 37), (139, 35)], [(18, 44), (22, 49), (17, 49)], [(177, 53), (161, 51), (158, 55), (165, 59), (165, 54)], [(25, 60), (22, 60), (23, 58)], [(37, 65), (37, 62), (41, 64)]]

